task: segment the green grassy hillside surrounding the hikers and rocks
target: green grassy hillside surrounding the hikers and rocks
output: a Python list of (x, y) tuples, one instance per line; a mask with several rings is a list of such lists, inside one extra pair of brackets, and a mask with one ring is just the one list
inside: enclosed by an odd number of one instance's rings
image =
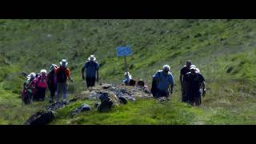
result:
[[(70, 83), (71, 98), (85, 90), (80, 70), (90, 54), (100, 63), (100, 82), (122, 82), (123, 59), (116, 56), (115, 47), (126, 45), (134, 52), (127, 58), (134, 78), (145, 79), (150, 85), (152, 75), (162, 65), (171, 66), (176, 82), (172, 102), (161, 105), (139, 100), (110, 114), (92, 112), (89, 118), (82, 114), (74, 120), (62, 115), (69, 110), (66, 107), (54, 124), (71, 120), (74, 124), (256, 122), (255, 20), (0, 20), (0, 31), (1, 124), (22, 124), (46, 105), (21, 106), (22, 70), (48, 70), (51, 63), (67, 58), (75, 80)], [(180, 103), (178, 74), (187, 59), (206, 78), (207, 95), (201, 108)], [(140, 114), (143, 117), (138, 118)]]

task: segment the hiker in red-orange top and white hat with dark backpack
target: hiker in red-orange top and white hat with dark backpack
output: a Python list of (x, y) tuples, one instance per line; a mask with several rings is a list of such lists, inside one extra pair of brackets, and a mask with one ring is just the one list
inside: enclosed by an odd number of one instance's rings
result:
[(66, 102), (66, 80), (68, 79), (70, 82), (73, 82), (73, 79), (70, 77), (70, 70), (66, 67), (67, 64), (66, 59), (62, 59), (60, 66), (55, 70), (55, 76), (57, 77), (57, 102), (59, 101), (61, 93), (63, 93), (62, 101)]

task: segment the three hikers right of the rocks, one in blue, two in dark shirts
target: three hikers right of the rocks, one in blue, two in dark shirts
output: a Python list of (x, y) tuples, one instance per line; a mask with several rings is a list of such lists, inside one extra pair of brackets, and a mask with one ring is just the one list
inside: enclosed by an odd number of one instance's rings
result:
[[(201, 96), (206, 94), (205, 78), (200, 70), (192, 65), (188, 60), (186, 65), (180, 70), (180, 82), (182, 91), (182, 102), (189, 103), (192, 106), (201, 105)], [(174, 77), (170, 73), (170, 66), (163, 66), (153, 76), (151, 93), (154, 98), (169, 98), (174, 90)]]

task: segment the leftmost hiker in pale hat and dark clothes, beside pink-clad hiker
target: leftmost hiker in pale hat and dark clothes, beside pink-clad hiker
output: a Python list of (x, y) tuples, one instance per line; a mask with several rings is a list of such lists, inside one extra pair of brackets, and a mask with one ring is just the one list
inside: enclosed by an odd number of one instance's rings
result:
[(33, 87), (30, 85), (34, 81), (35, 73), (31, 73), (26, 76), (26, 82), (22, 90), (22, 102), (25, 104), (30, 104), (33, 98)]

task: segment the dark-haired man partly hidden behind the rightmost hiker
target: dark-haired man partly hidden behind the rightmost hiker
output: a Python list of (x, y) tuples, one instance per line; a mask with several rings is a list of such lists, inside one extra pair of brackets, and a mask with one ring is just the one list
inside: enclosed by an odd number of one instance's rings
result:
[(184, 75), (188, 72), (190, 72), (190, 66), (192, 65), (192, 62), (190, 60), (186, 61), (186, 65), (182, 67), (180, 70), (180, 76), (179, 81), (181, 82), (181, 91), (182, 91), (182, 102), (188, 102), (188, 98), (186, 97), (186, 91), (183, 89), (183, 86), (186, 87), (186, 84), (183, 83)]

